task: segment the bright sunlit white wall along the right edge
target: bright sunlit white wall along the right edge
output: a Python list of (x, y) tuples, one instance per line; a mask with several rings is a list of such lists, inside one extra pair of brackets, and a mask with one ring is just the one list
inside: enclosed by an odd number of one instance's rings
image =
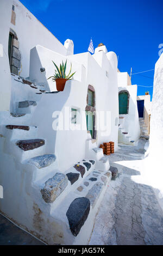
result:
[[(155, 64), (154, 86), (151, 109), (151, 124), (149, 137), (149, 156), (147, 157), (147, 168), (150, 172), (150, 181), (153, 187), (158, 188), (163, 197), (163, 172), (162, 172), (162, 150), (163, 150), (163, 54)], [(153, 177), (152, 177), (153, 175)], [(163, 206), (163, 202), (162, 202)]]

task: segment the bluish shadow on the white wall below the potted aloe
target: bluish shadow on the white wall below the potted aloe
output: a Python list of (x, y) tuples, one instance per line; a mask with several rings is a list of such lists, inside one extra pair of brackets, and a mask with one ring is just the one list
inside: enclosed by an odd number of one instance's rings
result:
[(59, 117), (60, 112), (65, 105), (65, 102), (70, 96), (70, 92), (71, 81), (67, 81), (63, 92), (50, 92), (43, 94), (41, 100), (37, 103), (32, 118), (32, 125), (39, 126), (39, 137), (46, 139), (47, 154), (55, 153), (57, 131), (53, 130), (52, 125), (54, 120)]

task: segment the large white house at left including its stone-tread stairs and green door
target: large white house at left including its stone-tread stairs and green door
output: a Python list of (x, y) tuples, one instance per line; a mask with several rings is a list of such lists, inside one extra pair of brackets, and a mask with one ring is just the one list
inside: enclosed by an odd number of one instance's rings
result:
[[(48, 244), (86, 244), (111, 179), (99, 145), (117, 149), (116, 54), (73, 54), (18, 0), (0, 11), (0, 210)], [(66, 59), (76, 74), (57, 92), (47, 78)]]

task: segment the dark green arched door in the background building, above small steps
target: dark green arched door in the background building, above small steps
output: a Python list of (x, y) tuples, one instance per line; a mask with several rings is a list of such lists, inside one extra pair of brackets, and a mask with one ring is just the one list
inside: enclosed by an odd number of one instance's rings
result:
[(119, 114), (128, 114), (129, 108), (129, 92), (127, 90), (121, 90), (118, 94), (119, 98)]

